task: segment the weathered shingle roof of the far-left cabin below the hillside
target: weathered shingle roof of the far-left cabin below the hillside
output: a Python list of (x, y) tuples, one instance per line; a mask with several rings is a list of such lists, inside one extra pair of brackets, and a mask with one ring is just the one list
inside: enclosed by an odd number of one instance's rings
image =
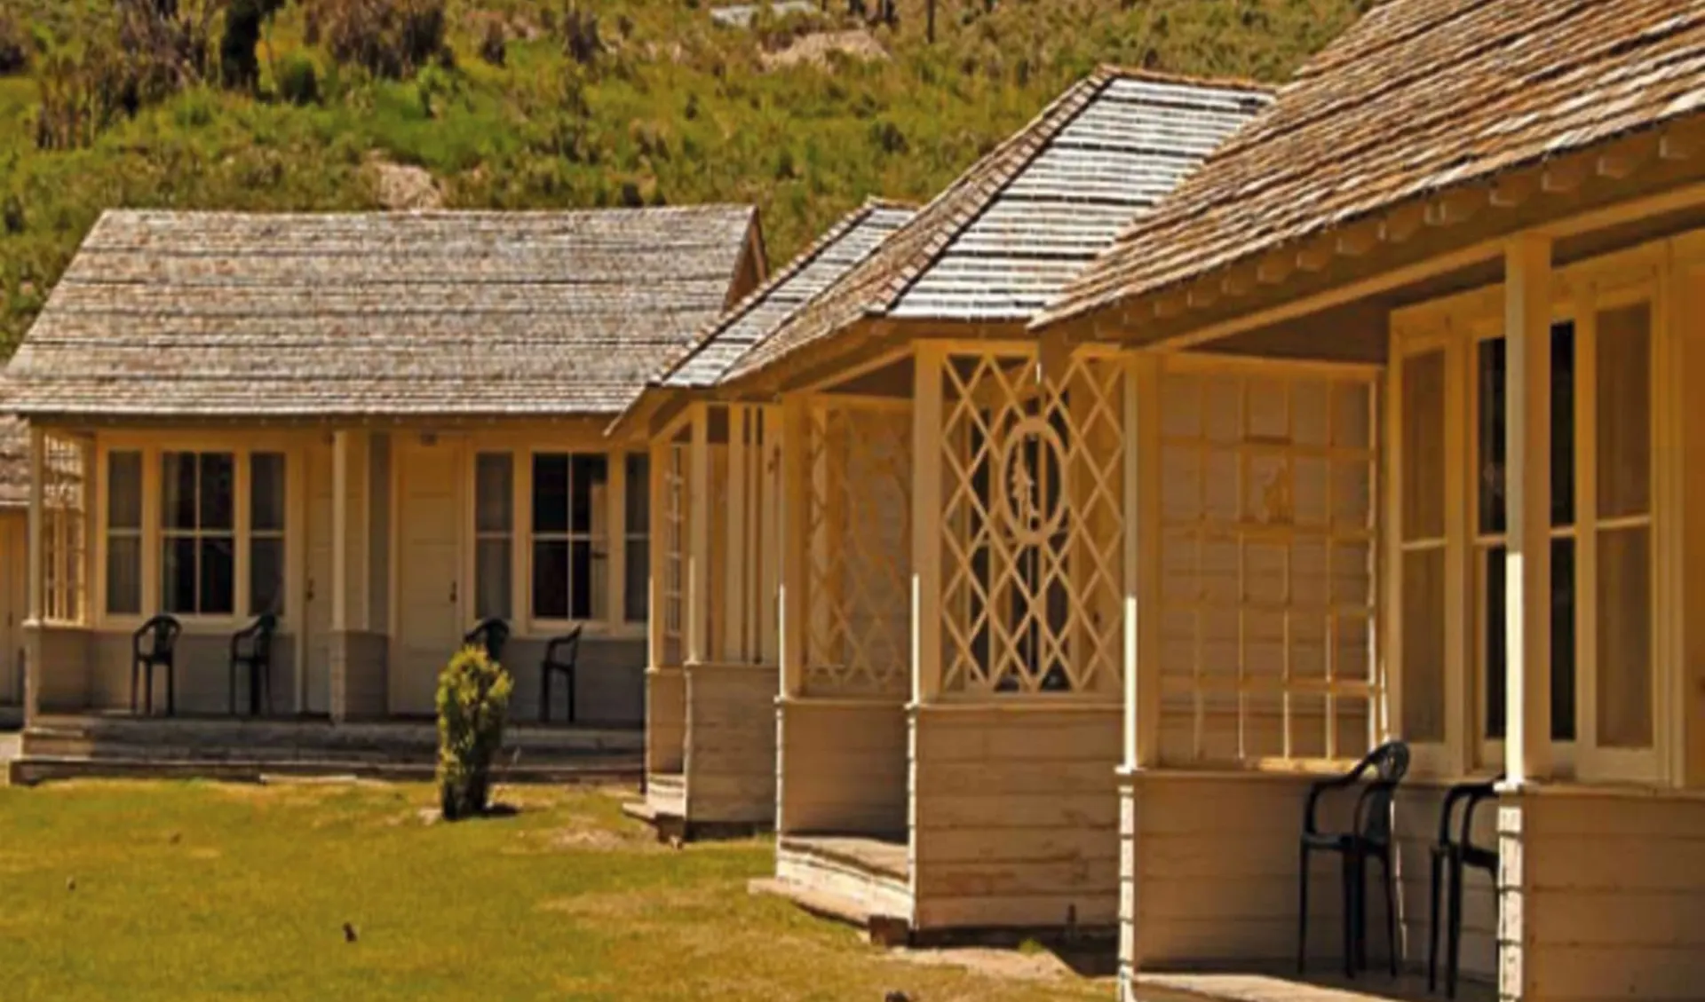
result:
[(748, 206), (109, 211), (14, 356), (9, 409), (614, 414), (728, 308), (755, 227)]

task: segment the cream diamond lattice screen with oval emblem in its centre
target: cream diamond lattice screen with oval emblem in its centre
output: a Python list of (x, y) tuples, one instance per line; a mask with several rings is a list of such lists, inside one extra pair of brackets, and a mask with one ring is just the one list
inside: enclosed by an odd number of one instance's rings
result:
[(1124, 665), (1125, 366), (953, 353), (941, 399), (941, 687), (1098, 694)]

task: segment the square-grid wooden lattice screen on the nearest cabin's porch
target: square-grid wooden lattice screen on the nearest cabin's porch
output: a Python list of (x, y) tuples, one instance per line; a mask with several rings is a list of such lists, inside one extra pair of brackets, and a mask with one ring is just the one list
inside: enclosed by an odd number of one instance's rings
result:
[(1374, 397), (1364, 370), (1166, 363), (1163, 760), (1340, 760), (1378, 734)]

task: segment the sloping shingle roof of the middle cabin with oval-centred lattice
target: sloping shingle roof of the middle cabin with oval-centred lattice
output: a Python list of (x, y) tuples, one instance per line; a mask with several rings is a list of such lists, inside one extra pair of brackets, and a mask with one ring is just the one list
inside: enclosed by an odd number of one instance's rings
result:
[(730, 378), (864, 317), (1023, 322), (1270, 95), (1101, 68), (924, 206)]

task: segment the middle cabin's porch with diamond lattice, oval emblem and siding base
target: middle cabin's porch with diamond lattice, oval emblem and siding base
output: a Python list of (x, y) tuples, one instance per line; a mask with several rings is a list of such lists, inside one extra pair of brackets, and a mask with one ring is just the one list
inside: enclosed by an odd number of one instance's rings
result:
[(777, 890), (881, 939), (1112, 932), (1130, 392), (919, 336), (783, 397)]

